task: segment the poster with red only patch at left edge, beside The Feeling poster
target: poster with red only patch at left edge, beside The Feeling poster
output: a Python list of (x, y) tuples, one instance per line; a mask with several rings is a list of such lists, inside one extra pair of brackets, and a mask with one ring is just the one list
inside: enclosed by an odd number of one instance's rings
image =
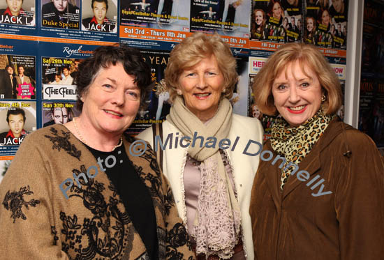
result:
[(3, 77), (10, 78), (0, 86), (0, 100), (36, 99), (35, 56), (0, 54), (0, 64)]

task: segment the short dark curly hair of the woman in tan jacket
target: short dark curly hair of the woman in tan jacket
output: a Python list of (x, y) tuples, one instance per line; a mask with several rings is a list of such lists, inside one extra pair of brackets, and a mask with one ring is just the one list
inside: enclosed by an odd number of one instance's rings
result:
[(149, 91), (152, 89), (151, 68), (145, 63), (138, 49), (126, 45), (102, 46), (94, 50), (94, 55), (79, 64), (76, 75), (77, 102), (76, 107), (82, 112), (82, 95), (87, 94), (89, 86), (94, 82), (101, 68), (108, 68), (121, 63), (128, 75), (135, 77), (140, 89), (140, 108), (145, 107)]

